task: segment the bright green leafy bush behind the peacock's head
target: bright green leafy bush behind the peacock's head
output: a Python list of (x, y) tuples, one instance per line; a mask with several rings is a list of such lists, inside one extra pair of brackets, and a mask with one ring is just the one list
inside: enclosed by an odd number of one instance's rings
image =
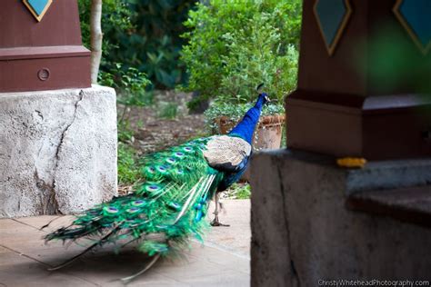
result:
[[(257, 84), (280, 101), (296, 87), (300, 0), (211, 0), (189, 13), (182, 60), (188, 91), (231, 104), (256, 99)], [(281, 103), (281, 102), (280, 102)], [(193, 104), (193, 103), (192, 103)]]

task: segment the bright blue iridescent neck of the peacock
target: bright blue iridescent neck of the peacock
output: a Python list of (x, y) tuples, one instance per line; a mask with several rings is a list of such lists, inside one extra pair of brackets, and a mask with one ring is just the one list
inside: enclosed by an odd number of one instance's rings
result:
[(239, 136), (247, 143), (252, 144), (253, 133), (255, 132), (256, 124), (259, 121), (262, 108), (266, 102), (266, 94), (260, 94), (254, 107), (249, 109), (244, 115), (241, 122), (236, 124), (236, 127), (229, 133), (230, 135)]

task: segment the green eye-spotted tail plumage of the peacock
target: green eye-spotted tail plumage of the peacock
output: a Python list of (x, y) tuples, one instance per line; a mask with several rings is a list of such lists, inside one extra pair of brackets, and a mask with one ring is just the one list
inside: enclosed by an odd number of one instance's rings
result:
[(139, 242), (138, 249), (149, 255), (173, 252), (191, 235), (199, 239), (209, 200), (224, 176), (205, 161), (202, 151), (208, 140), (146, 156), (140, 163), (143, 181), (134, 193), (95, 206), (45, 239)]

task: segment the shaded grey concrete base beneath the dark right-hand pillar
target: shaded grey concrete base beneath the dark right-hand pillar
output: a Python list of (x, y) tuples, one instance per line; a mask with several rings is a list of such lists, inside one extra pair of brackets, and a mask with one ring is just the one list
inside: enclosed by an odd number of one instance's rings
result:
[(251, 164), (252, 286), (429, 280), (431, 229), (347, 210), (346, 199), (366, 190), (429, 184), (430, 171), (429, 160), (347, 170), (312, 153), (257, 153)]

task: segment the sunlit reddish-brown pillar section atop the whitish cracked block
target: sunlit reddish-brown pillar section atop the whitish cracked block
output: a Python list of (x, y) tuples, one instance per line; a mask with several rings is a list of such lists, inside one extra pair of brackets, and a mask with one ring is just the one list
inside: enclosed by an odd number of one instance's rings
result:
[(0, 93), (87, 88), (76, 0), (2, 0)]

